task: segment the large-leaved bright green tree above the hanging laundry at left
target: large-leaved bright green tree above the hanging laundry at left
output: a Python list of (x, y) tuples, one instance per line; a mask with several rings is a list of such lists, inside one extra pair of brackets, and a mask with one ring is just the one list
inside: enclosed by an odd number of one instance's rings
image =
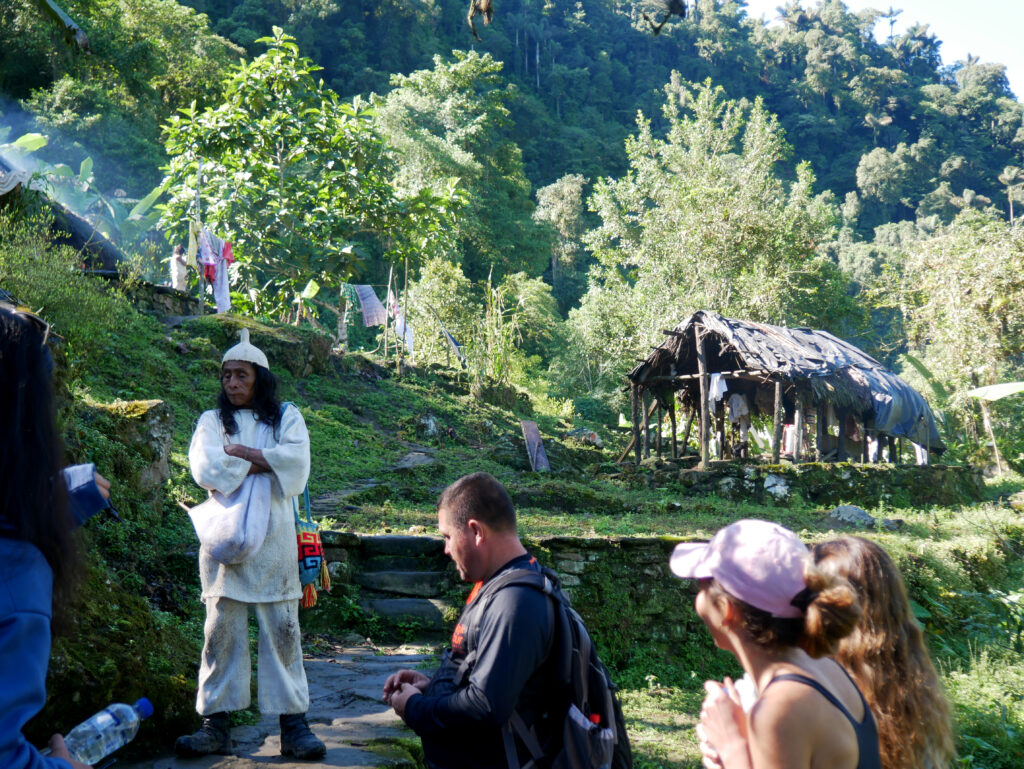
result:
[(316, 287), (340, 289), (360, 251), (379, 251), (396, 203), (365, 104), (342, 102), (294, 39), (273, 32), (266, 53), (229, 73), (224, 103), (166, 126), (164, 224), (182, 237), (198, 185), (203, 221), (232, 242), (257, 310), (287, 313)]

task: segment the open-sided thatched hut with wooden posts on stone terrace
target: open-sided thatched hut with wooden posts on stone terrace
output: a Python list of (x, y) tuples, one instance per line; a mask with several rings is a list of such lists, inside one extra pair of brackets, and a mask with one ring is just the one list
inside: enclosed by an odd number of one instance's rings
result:
[[(667, 412), (673, 456), (678, 456), (677, 402), (690, 415), (683, 443), (696, 420), (700, 456), (707, 462), (713, 432), (723, 443), (728, 441), (722, 393), (741, 395), (754, 415), (771, 416), (775, 462), (783, 424), (794, 426), (794, 460), (805, 456), (809, 422), (816, 427), (818, 460), (849, 459), (851, 432), (862, 438), (856, 444), (859, 456), (853, 459), (865, 462), (868, 436), (888, 441), (891, 458), (896, 456), (896, 440), (904, 437), (926, 454), (944, 451), (935, 417), (921, 394), (870, 355), (828, 332), (736, 321), (701, 310), (664, 334), (665, 341), (628, 375), (637, 462), (650, 454), (648, 425), (655, 412), (658, 453), (662, 417)], [(838, 438), (828, 434), (828, 424), (838, 425)]]

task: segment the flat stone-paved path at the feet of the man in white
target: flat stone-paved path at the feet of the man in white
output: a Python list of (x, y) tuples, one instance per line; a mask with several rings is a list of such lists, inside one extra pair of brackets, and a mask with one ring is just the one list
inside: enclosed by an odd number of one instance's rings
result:
[[(394, 712), (381, 702), (381, 689), (393, 671), (418, 668), (430, 659), (428, 649), (411, 646), (389, 651), (346, 646), (337, 648), (330, 656), (307, 656), (309, 726), (327, 745), (327, 756), (318, 762), (282, 757), (278, 717), (269, 716), (252, 726), (237, 726), (231, 730), (233, 756), (185, 760), (168, 751), (166, 755), (142, 762), (119, 761), (114, 769), (250, 769), (266, 764), (294, 769), (370, 769), (382, 765), (415, 769), (401, 745), (391, 740), (416, 737)], [(168, 744), (172, 741), (168, 736)]]

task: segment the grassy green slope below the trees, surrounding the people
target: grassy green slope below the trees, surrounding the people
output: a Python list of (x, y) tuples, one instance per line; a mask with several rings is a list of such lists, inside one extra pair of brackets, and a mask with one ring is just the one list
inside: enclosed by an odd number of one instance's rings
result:
[[(143, 730), (130, 747), (134, 755), (166, 750), (163, 735), (191, 728), (203, 614), (198, 543), (179, 503), (202, 499), (187, 469), (188, 439), (198, 415), (214, 401), (220, 351), (240, 327), (250, 328), (267, 350), (284, 397), (309, 426), (310, 489), (329, 529), (436, 535), (440, 488), (483, 469), (508, 485), (529, 540), (710, 537), (737, 517), (778, 520), (809, 541), (835, 533), (826, 511), (799, 499), (764, 507), (694, 497), (674, 475), (615, 465), (628, 431), (616, 420), (573, 412), (570, 401), (493, 381), (474, 384), (458, 367), (406, 368), (398, 375), (393, 355), (332, 353), (327, 336), (295, 326), (240, 315), (162, 322), (129, 301), (144, 295), (144, 287), (82, 274), (77, 254), (49, 245), (45, 229), (4, 219), (0, 231), (0, 281), (41, 307), (60, 335), (69, 461), (94, 461), (114, 480), (125, 519), (94, 518), (85, 527), (88, 570), (73, 624), (54, 645), (50, 700), (30, 726), (37, 740), (108, 701), (143, 694), (157, 707), (157, 728)], [(523, 418), (541, 427), (550, 474), (529, 470)], [(570, 429), (581, 426), (596, 430), (605, 446), (572, 439)], [(169, 452), (154, 480), (161, 443)], [(436, 461), (399, 468), (414, 450)], [(903, 570), (953, 702), (965, 766), (1009, 769), (1024, 757), (1024, 527), (1022, 503), (1014, 501), (1024, 497), (1022, 489), (1019, 476), (1002, 476), (988, 483), (985, 501), (953, 507), (916, 505), (897, 492), (868, 509), (903, 525), (862, 532)], [(602, 590), (601, 606), (585, 614), (623, 686), (638, 766), (695, 769), (692, 725), (702, 682), (735, 675), (735, 664), (714, 649), (692, 612), (686, 642), (667, 648), (645, 640), (644, 625), (622, 611), (635, 599), (628, 587)], [(336, 586), (331, 599), (322, 597), (304, 614), (316, 631), (305, 636), (310, 652), (353, 633), (379, 645), (417, 636), (415, 625), (382, 626), (359, 608), (357, 588)], [(626, 635), (610, 632), (608, 609), (611, 623), (628, 621)]]

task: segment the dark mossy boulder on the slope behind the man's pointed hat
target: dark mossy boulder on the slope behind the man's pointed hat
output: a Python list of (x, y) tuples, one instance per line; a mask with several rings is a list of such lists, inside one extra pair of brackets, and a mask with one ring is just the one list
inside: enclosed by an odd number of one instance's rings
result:
[(249, 329), (250, 340), (266, 353), (270, 370), (281, 367), (296, 377), (324, 374), (330, 368), (331, 338), (313, 329), (267, 326), (241, 315), (204, 315), (185, 324), (189, 334), (209, 339), (223, 354)]

